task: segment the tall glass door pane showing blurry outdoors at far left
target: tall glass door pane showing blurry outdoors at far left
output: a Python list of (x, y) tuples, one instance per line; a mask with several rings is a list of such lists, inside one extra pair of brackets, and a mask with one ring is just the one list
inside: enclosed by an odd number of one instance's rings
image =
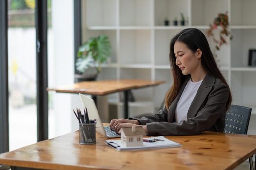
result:
[(37, 142), (35, 0), (9, 0), (9, 149)]

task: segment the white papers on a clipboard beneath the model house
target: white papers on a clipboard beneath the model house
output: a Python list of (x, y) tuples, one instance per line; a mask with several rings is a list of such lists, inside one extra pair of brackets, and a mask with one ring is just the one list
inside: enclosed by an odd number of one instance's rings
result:
[(171, 141), (164, 136), (144, 138), (149, 140), (159, 139), (162, 141), (157, 142), (143, 142), (143, 146), (123, 146), (121, 140), (106, 140), (106, 144), (118, 151), (122, 150), (141, 150), (141, 149), (154, 149), (154, 148), (172, 148), (180, 147), (179, 143)]

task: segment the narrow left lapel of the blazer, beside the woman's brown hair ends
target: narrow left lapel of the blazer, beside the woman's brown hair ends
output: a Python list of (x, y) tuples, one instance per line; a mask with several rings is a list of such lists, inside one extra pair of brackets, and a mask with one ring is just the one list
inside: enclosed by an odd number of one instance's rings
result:
[(168, 108), (168, 122), (174, 122), (174, 114), (175, 114), (175, 109), (176, 109), (177, 103), (178, 103), (189, 79), (190, 79), (190, 76), (188, 76), (188, 78), (185, 80), (185, 82), (183, 83), (183, 85), (180, 88), (180, 91), (178, 92), (177, 97), (174, 99), (174, 101), (171, 103), (171, 105)]

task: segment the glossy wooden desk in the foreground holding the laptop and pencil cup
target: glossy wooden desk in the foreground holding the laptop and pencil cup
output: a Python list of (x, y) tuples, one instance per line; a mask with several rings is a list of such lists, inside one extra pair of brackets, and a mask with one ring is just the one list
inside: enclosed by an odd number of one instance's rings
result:
[(79, 145), (78, 135), (76, 131), (3, 153), (0, 164), (51, 170), (232, 170), (256, 153), (252, 135), (166, 136), (183, 146), (140, 151), (116, 151), (98, 133), (96, 144)]

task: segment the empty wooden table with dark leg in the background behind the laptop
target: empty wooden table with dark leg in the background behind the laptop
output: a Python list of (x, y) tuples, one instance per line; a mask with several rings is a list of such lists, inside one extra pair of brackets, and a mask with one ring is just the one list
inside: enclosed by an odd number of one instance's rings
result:
[(132, 89), (145, 88), (154, 85), (160, 85), (165, 81), (151, 81), (138, 79), (125, 80), (100, 80), (79, 82), (73, 85), (60, 86), (57, 88), (47, 88), (47, 91), (56, 91), (61, 93), (84, 93), (91, 95), (107, 95), (116, 92), (124, 92), (124, 118), (129, 117), (128, 110), (128, 91)]

